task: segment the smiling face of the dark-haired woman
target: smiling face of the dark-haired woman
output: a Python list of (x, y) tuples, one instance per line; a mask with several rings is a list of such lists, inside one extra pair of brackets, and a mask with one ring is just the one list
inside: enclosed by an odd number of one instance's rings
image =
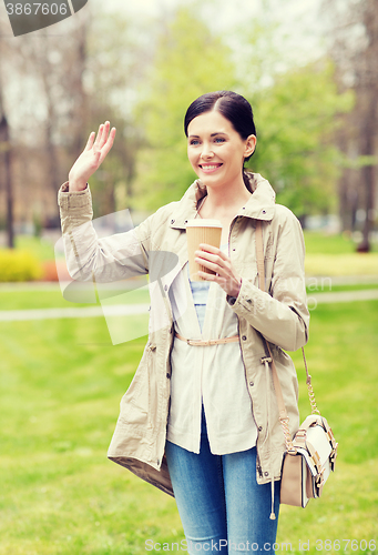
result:
[(187, 135), (187, 157), (206, 186), (243, 181), (244, 158), (255, 150), (255, 135), (242, 139), (231, 121), (216, 110), (194, 118)]

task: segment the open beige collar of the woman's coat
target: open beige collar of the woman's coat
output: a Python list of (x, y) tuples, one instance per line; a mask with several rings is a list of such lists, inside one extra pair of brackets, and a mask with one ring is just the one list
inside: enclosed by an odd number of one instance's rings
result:
[[(248, 178), (253, 194), (235, 216), (253, 218), (255, 220), (272, 220), (274, 216), (276, 193), (269, 182), (259, 173), (248, 172)], [(196, 215), (198, 201), (206, 196), (206, 186), (201, 180), (197, 179), (192, 183), (184, 196), (177, 202), (172, 213), (170, 228), (185, 229), (187, 221)]]

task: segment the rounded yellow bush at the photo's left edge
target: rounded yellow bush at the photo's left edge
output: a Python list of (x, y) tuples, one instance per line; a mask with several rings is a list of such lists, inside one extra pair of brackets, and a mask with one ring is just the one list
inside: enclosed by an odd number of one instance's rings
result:
[(30, 252), (0, 249), (0, 282), (33, 281), (42, 274), (41, 263)]

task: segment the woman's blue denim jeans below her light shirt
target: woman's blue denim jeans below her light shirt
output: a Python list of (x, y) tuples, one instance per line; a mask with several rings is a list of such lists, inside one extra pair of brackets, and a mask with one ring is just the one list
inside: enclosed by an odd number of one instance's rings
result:
[(171, 442), (165, 454), (190, 555), (274, 553), (280, 483), (273, 521), (270, 484), (256, 482), (256, 447), (213, 455), (203, 412), (200, 454)]

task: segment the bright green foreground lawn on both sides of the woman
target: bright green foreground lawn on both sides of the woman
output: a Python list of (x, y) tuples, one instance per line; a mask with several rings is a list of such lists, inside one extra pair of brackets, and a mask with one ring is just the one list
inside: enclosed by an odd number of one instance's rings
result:
[[(9, 305), (18, 294), (8, 292)], [(52, 302), (43, 291), (39, 300)], [(0, 555), (137, 555), (150, 538), (180, 542), (174, 500), (106, 460), (145, 337), (113, 346), (102, 317), (0, 322)], [(292, 553), (299, 541), (334, 552), (326, 539), (368, 553), (364, 539), (377, 539), (377, 334), (378, 302), (311, 312), (306, 353), (339, 456), (321, 500), (282, 507), (277, 542)], [(300, 352), (294, 359), (304, 417)]]

